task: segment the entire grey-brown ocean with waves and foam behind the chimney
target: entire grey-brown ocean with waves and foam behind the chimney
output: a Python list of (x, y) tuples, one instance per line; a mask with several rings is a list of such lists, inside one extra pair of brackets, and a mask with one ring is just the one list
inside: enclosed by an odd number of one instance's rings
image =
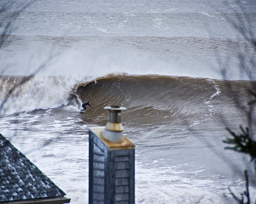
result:
[[(234, 203), (250, 158), (224, 150), (255, 90), (256, 1), (1, 1), (0, 133), (88, 203), (88, 128), (108, 105), (136, 145), (136, 204)], [(14, 15), (15, 14), (15, 15)], [(86, 114), (83, 102), (90, 100)]]

